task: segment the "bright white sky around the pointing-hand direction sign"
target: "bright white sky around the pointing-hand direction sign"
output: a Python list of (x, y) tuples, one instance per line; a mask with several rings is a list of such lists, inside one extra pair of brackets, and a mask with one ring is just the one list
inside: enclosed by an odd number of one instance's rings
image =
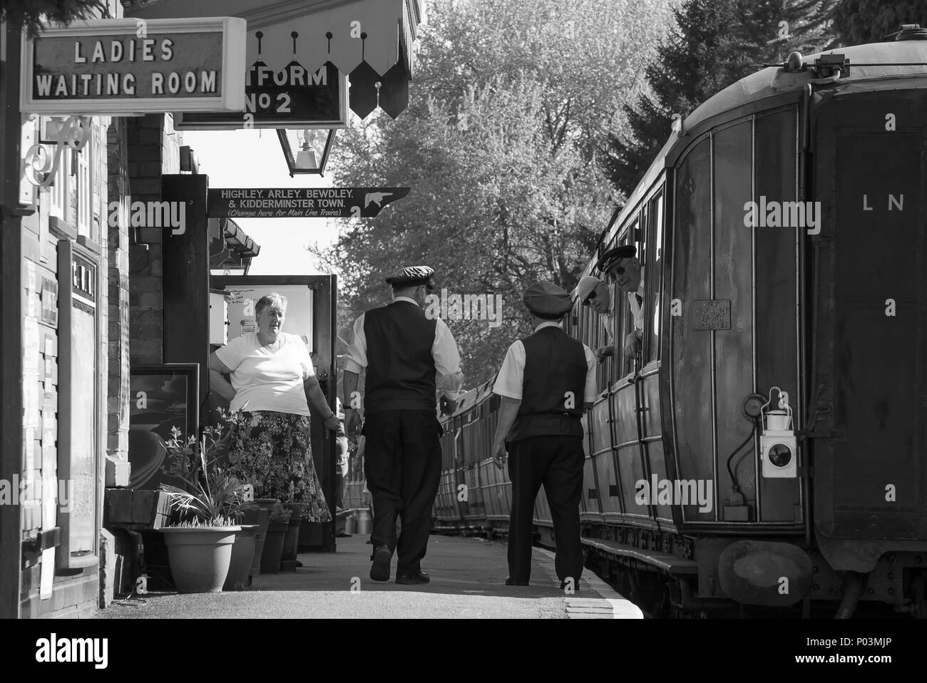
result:
[[(210, 189), (221, 187), (331, 187), (331, 176), (289, 177), (286, 158), (273, 130), (184, 131), (184, 145), (197, 153), (199, 172), (210, 176)], [(337, 154), (337, 139), (332, 157)], [(329, 168), (332, 158), (328, 159)], [(338, 219), (235, 219), (260, 254), (249, 275), (313, 275), (323, 272), (304, 245), (329, 246), (337, 239)]]

